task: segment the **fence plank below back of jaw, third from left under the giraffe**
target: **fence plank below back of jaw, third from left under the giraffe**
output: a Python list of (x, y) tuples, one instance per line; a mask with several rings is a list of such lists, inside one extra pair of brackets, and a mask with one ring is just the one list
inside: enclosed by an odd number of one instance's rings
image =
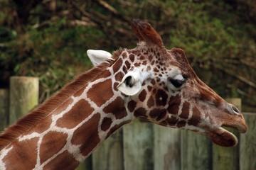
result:
[(153, 123), (136, 121), (123, 127), (124, 169), (154, 169)]

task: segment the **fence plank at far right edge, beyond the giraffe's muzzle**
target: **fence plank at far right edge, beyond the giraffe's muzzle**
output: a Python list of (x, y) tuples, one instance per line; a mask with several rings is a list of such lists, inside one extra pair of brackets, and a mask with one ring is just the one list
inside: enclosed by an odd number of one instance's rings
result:
[(248, 131), (240, 135), (240, 170), (256, 169), (256, 114), (244, 113)]

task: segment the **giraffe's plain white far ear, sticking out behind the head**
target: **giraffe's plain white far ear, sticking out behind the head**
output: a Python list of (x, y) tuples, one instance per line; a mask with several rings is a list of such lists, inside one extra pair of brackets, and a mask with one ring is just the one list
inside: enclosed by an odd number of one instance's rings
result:
[(102, 62), (113, 60), (110, 52), (103, 50), (87, 50), (87, 55), (94, 67), (101, 64)]

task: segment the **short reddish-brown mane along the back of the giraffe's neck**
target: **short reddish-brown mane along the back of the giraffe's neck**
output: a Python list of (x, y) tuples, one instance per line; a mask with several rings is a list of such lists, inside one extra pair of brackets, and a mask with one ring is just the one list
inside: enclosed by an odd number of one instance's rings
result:
[(0, 151), (9, 145), (10, 142), (16, 140), (16, 138), (22, 135), (23, 132), (33, 128), (35, 125), (37, 125), (37, 123), (50, 115), (50, 113), (55, 110), (56, 106), (58, 107), (60, 104), (67, 101), (70, 96), (75, 94), (74, 89), (79, 91), (90, 81), (93, 81), (97, 76), (102, 74), (102, 72), (104, 72), (107, 67), (110, 67), (112, 64), (114, 64), (121, 52), (122, 49), (120, 48), (113, 53), (112, 57), (114, 60), (103, 62), (99, 66), (78, 75), (78, 77), (76, 77), (70, 83), (66, 84), (57, 94), (50, 97), (46, 102), (41, 104), (41, 106), (38, 106), (34, 111), (19, 119), (14, 125), (6, 128), (4, 132), (0, 134)]

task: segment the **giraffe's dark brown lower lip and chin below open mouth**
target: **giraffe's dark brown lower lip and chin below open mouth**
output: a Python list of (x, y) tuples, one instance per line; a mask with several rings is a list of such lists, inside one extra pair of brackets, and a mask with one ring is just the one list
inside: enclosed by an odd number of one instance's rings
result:
[(210, 140), (212, 140), (216, 145), (220, 145), (222, 147), (235, 147), (235, 145), (238, 144), (238, 138), (233, 135), (232, 132), (221, 127), (215, 132), (208, 132), (207, 136), (210, 137)]

